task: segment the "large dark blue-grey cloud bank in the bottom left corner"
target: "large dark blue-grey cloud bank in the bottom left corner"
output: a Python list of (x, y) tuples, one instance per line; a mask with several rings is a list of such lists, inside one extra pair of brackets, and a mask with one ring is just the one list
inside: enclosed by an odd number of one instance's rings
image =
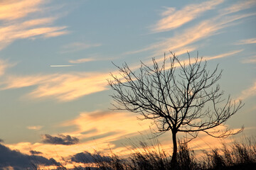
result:
[(54, 159), (45, 157), (22, 154), (18, 150), (11, 150), (9, 147), (0, 144), (0, 169), (12, 166), (15, 170), (32, 169), (32, 166), (55, 165)]

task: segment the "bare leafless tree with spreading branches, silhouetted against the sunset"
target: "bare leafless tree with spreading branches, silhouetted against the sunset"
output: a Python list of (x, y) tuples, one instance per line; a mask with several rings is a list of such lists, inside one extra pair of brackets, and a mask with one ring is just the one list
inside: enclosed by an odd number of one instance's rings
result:
[[(143, 119), (154, 120), (159, 132), (171, 130), (174, 151), (171, 162), (176, 164), (177, 133), (185, 132), (193, 139), (198, 132), (213, 137), (228, 137), (241, 132), (230, 130), (225, 122), (242, 108), (242, 101), (223, 99), (224, 91), (219, 84), (223, 70), (218, 65), (213, 72), (206, 69), (202, 57), (181, 62), (171, 52), (169, 60), (159, 66), (153, 58), (153, 65), (141, 62), (138, 72), (133, 72), (126, 63), (118, 67), (119, 75), (108, 80), (115, 91), (112, 95), (115, 109), (127, 110), (143, 115)], [(224, 125), (225, 130), (220, 130)], [(223, 128), (222, 128), (223, 129)], [(189, 140), (189, 141), (190, 141)]]

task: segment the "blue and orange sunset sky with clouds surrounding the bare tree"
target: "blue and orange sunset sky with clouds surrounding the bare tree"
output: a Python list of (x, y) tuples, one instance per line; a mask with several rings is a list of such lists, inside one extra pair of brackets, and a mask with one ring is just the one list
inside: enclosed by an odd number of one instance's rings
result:
[[(255, 16), (253, 0), (0, 0), (0, 158), (9, 155), (0, 169), (27, 167), (14, 157), (31, 154), (50, 165), (95, 149), (126, 153), (128, 139), (146, 138), (154, 125), (110, 110), (107, 79), (118, 74), (114, 64), (136, 70), (169, 51), (219, 64), (220, 88), (245, 103), (226, 125), (255, 135)], [(171, 150), (171, 133), (159, 141)]]

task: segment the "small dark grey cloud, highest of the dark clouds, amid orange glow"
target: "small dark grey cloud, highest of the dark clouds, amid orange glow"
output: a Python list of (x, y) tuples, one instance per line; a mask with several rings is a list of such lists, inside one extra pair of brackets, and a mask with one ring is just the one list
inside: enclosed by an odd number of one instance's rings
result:
[(58, 135), (58, 137), (54, 137), (46, 134), (43, 135), (43, 142), (55, 145), (75, 145), (79, 142), (79, 139), (70, 135)]

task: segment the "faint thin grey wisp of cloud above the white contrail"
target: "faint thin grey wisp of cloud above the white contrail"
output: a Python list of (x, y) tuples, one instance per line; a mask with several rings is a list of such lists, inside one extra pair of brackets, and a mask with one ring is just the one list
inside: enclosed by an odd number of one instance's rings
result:
[(95, 44), (89, 44), (85, 42), (72, 42), (68, 45), (64, 45), (62, 47), (61, 53), (66, 53), (66, 52), (76, 52), (80, 50), (85, 50), (87, 48), (91, 47), (100, 47), (100, 43), (95, 43)]

